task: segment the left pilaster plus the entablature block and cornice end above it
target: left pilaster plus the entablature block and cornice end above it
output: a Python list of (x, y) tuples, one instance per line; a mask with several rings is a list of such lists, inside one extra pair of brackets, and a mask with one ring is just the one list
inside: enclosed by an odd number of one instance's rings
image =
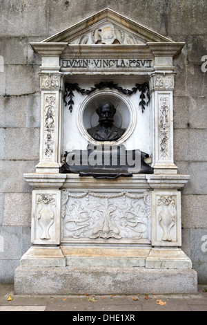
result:
[(58, 173), (61, 165), (61, 106), (63, 75), (60, 55), (66, 43), (32, 43), (41, 58), (41, 136), (37, 173)]

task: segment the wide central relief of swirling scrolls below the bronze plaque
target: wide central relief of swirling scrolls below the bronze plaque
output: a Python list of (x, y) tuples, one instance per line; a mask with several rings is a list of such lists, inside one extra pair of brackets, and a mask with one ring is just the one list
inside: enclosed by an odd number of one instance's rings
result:
[(150, 192), (75, 194), (63, 190), (64, 227), (74, 239), (148, 238), (150, 213)]

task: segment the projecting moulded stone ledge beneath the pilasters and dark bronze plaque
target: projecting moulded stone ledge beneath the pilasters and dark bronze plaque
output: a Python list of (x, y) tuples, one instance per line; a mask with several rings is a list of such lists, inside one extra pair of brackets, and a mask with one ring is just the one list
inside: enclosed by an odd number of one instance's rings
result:
[[(38, 166), (38, 165), (37, 165)], [(49, 165), (48, 165), (49, 166)], [(57, 168), (57, 165), (53, 166)], [(51, 168), (53, 168), (51, 166)], [(35, 188), (72, 188), (72, 189), (181, 189), (188, 182), (189, 175), (184, 174), (133, 174), (132, 178), (120, 177), (117, 180), (97, 180), (92, 176), (80, 177), (79, 174), (59, 174), (44, 172), (23, 175)]]

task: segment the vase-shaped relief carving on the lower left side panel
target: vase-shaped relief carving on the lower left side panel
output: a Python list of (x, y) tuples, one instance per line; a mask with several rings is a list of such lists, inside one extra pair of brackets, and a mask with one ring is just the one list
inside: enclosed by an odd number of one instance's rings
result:
[(52, 210), (52, 207), (56, 205), (55, 198), (51, 194), (41, 194), (37, 200), (37, 205), (40, 205), (37, 217), (38, 225), (41, 228), (40, 239), (50, 239), (49, 230), (55, 219), (55, 212)]

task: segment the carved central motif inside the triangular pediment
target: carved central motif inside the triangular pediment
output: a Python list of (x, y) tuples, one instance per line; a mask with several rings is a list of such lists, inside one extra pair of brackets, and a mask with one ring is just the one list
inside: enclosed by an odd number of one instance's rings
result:
[(95, 44), (120, 44), (119, 39), (117, 39), (115, 27), (111, 23), (101, 25), (95, 30), (94, 34)]

